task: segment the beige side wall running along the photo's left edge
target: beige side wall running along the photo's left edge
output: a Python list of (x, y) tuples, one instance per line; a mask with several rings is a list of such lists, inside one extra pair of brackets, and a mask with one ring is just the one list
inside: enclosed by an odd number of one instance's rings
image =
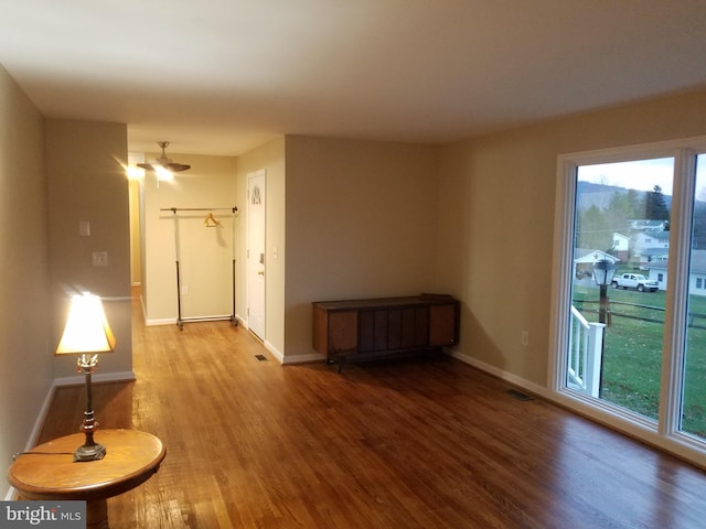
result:
[[(52, 385), (44, 120), (0, 66), (0, 467)], [(9, 485), (0, 481), (0, 499)]]

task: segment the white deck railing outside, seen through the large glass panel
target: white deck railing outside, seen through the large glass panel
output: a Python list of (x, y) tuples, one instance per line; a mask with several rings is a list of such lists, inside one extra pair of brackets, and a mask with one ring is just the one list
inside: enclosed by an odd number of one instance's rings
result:
[(605, 323), (589, 323), (571, 305), (568, 380), (570, 388), (598, 397)]

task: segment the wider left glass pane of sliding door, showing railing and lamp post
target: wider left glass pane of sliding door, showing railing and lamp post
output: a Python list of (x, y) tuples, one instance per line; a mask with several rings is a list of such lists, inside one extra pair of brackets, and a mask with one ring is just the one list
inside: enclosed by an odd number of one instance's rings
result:
[(673, 158), (576, 173), (566, 384), (655, 421), (673, 175)]

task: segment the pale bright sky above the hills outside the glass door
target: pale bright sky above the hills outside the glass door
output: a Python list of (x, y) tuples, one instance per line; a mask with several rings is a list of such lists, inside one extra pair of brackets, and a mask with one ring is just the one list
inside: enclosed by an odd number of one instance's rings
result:
[[(652, 191), (662, 187), (664, 195), (672, 195), (674, 159), (660, 158), (632, 162), (581, 165), (578, 177), (581, 182), (616, 185), (628, 190)], [(706, 199), (706, 155), (699, 154), (696, 169), (696, 196)]]

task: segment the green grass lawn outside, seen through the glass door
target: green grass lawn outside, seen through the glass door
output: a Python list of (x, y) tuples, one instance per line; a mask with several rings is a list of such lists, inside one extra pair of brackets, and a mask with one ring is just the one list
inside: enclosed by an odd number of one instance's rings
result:
[[(601, 398), (657, 419), (665, 292), (608, 289), (608, 296), (612, 319), (606, 330)], [(575, 305), (589, 322), (598, 321), (592, 303), (598, 299), (597, 287), (574, 290)], [(706, 298), (693, 295), (689, 303), (689, 313), (706, 314)], [(706, 320), (693, 323), (706, 327)], [(706, 439), (706, 330), (689, 326), (686, 350), (682, 430)]]

